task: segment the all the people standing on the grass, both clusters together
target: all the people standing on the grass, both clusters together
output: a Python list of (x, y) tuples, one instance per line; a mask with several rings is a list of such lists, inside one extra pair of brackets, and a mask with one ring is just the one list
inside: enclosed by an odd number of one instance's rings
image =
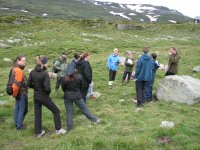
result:
[[(141, 107), (145, 102), (152, 101), (152, 87), (156, 70), (159, 63), (156, 61), (156, 53), (148, 55), (149, 48), (143, 48), (143, 54), (137, 60), (135, 74), (133, 76), (136, 84), (137, 106)], [(108, 70), (110, 88), (117, 73), (117, 66), (120, 63), (118, 49), (113, 50), (113, 54), (108, 57)], [(125, 70), (122, 77), (122, 85), (129, 82), (134, 60), (131, 52), (127, 52), (125, 59)], [(53, 70), (58, 74), (55, 90), (61, 85), (64, 92), (64, 104), (66, 108), (67, 131), (61, 127), (60, 110), (50, 97), (51, 84), (48, 68), (48, 58), (40, 55), (35, 61), (35, 68), (30, 72), (28, 79), (23, 73), (26, 65), (26, 57), (19, 55), (14, 60), (11, 72), (14, 72), (12, 83), (12, 96), (15, 97), (14, 123), (17, 130), (25, 129), (24, 118), (28, 112), (28, 88), (34, 90), (34, 115), (35, 115), (35, 134), (42, 137), (45, 131), (42, 129), (42, 106), (48, 108), (54, 115), (54, 125), (56, 134), (65, 134), (73, 129), (73, 103), (75, 103), (82, 113), (96, 124), (101, 122), (94, 116), (86, 105), (87, 93), (92, 82), (92, 67), (89, 63), (89, 53), (75, 54), (71, 63), (66, 63), (67, 53), (62, 53), (58, 61), (53, 63)], [(168, 70), (165, 76), (177, 74), (180, 56), (175, 47), (169, 50)]]

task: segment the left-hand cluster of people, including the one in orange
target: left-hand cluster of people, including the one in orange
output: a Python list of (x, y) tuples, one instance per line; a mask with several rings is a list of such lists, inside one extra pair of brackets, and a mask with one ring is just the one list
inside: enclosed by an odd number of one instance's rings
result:
[[(63, 62), (66, 60), (66, 53), (61, 54)], [(76, 59), (76, 57), (75, 57)], [(14, 72), (12, 83), (12, 96), (15, 97), (14, 122), (17, 130), (25, 129), (24, 118), (28, 112), (28, 88), (34, 90), (34, 115), (35, 115), (35, 134), (42, 137), (45, 131), (42, 130), (42, 106), (48, 108), (54, 115), (54, 125), (56, 134), (65, 134), (73, 129), (73, 103), (75, 103), (82, 113), (96, 124), (101, 122), (94, 116), (86, 105), (86, 95), (89, 84), (92, 82), (92, 69), (89, 64), (89, 54), (83, 53), (78, 59), (73, 60), (66, 67), (59, 67), (56, 90), (61, 85), (64, 92), (64, 104), (67, 116), (67, 131), (61, 127), (60, 110), (50, 97), (51, 84), (47, 72), (48, 58), (40, 55), (35, 61), (35, 68), (30, 72), (28, 79), (23, 73), (26, 65), (26, 57), (19, 55), (14, 60), (11, 69)], [(57, 63), (55, 63), (59, 66)], [(62, 64), (62, 63), (61, 63)], [(59, 73), (63, 71), (62, 73)], [(62, 76), (63, 75), (63, 76)]]

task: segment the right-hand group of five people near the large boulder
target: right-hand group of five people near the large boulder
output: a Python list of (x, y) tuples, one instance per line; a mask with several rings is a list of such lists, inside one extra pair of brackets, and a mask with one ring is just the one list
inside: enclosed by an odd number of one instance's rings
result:
[[(152, 89), (154, 84), (154, 78), (156, 70), (160, 67), (158, 61), (156, 60), (157, 54), (152, 53), (148, 55), (149, 48), (143, 48), (143, 54), (137, 60), (135, 74), (133, 75), (135, 85), (136, 85), (136, 95), (137, 95), (137, 106), (141, 107), (145, 102), (150, 102), (153, 100)], [(122, 85), (125, 81), (129, 82), (133, 67), (134, 60), (132, 58), (132, 53), (127, 52), (128, 56), (125, 59), (125, 70), (122, 77)], [(175, 47), (169, 49), (169, 61), (168, 69), (165, 76), (175, 75), (178, 72), (178, 63), (180, 56)], [(120, 58), (118, 56), (118, 49), (113, 50), (113, 54), (108, 57), (108, 69), (109, 69), (109, 82), (108, 85), (110, 88), (113, 86), (115, 76), (117, 73), (117, 67), (120, 63)]]

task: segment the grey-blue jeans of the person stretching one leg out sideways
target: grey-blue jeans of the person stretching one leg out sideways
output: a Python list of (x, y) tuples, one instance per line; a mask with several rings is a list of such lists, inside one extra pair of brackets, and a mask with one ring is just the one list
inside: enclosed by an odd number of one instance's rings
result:
[(96, 122), (97, 118), (95, 116), (93, 116), (91, 114), (91, 112), (89, 111), (87, 105), (84, 103), (83, 99), (78, 99), (78, 100), (70, 100), (70, 99), (65, 99), (65, 109), (67, 112), (67, 130), (72, 130), (73, 129), (73, 112), (74, 112), (74, 108), (73, 108), (73, 103), (76, 104), (76, 106), (79, 107), (79, 109), (81, 110), (81, 112), (92, 122)]

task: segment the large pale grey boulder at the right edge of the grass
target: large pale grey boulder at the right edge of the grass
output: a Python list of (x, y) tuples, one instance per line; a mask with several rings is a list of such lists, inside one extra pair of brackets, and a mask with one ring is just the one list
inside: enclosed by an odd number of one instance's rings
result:
[(159, 100), (193, 105), (200, 101), (200, 80), (190, 76), (166, 76), (158, 85)]

